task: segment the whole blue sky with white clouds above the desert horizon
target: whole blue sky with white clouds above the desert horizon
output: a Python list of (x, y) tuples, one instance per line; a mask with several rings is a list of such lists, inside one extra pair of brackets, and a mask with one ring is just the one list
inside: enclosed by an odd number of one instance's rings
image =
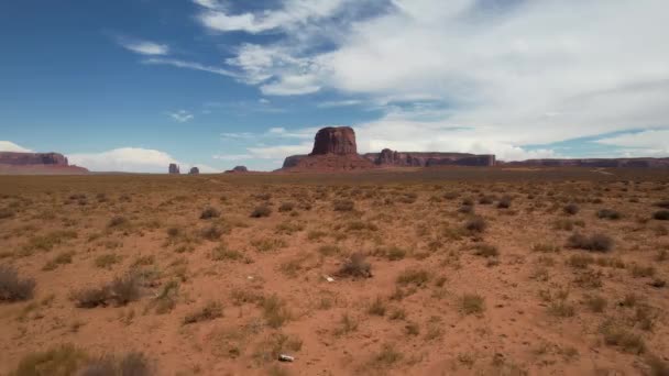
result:
[(660, 0), (0, 3), (0, 150), (94, 170), (360, 152), (669, 155)]

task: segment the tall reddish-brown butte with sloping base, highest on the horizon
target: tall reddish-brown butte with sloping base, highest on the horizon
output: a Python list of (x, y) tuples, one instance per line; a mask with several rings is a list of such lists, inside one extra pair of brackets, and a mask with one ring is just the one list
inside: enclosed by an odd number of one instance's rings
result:
[(355, 132), (350, 126), (328, 126), (316, 133), (309, 155), (293, 155), (284, 161), (285, 172), (338, 172), (374, 168), (358, 154)]

